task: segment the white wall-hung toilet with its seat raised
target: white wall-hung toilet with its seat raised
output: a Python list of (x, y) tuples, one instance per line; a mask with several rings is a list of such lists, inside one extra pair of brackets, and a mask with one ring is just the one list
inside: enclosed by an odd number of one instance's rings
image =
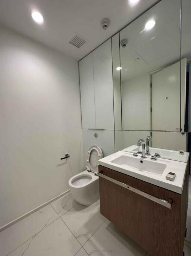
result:
[(98, 172), (98, 160), (101, 158), (103, 158), (101, 148), (91, 147), (88, 150), (85, 171), (68, 181), (73, 198), (82, 205), (91, 205), (99, 199), (99, 180), (94, 172)]

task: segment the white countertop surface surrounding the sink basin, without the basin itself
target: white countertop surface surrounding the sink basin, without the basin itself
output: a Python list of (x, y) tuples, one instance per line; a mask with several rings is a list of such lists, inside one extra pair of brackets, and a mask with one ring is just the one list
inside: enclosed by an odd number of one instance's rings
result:
[[(148, 172), (142, 172), (128, 165), (124, 166), (124, 165), (119, 165), (111, 162), (122, 155), (132, 156), (132, 153), (125, 152), (125, 151), (118, 151), (110, 156), (106, 156), (98, 160), (98, 164), (105, 166), (109, 169), (113, 169), (114, 171), (118, 171), (123, 174), (129, 175), (131, 177), (137, 178), (139, 180), (146, 181), (153, 185), (163, 187), (164, 189), (168, 189), (179, 194), (182, 193), (186, 169), (187, 169), (187, 163), (179, 162), (175, 160), (169, 160), (169, 159), (162, 159), (162, 158), (158, 158), (157, 161), (153, 161), (150, 159), (150, 156), (148, 156), (146, 159), (141, 158), (141, 156), (136, 157), (137, 159), (140, 159), (143, 161), (152, 161), (152, 162), (157, 162), (157, 163), (162, 163), (167, 165), (163, 174), (159, 175), (159, 174), (152, 174)], [(166, 174), (168, 174), (169, 172), (174, 172), (176, 174), (174, 181), (166, 180)]]

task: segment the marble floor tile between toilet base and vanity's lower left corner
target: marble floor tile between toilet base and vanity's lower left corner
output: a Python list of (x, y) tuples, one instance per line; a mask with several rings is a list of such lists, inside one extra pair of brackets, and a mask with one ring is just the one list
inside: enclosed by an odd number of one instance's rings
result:
[(61, 217), (82, 246), (106, 220), (100, 214), (99, 203), (88, 207), (78, 204)]

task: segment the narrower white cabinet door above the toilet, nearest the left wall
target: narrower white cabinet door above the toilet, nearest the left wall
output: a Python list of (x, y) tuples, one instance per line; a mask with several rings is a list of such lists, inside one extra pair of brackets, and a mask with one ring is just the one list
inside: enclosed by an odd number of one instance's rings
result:
[(95, 128), (93, 53), (79, 61), (82, 129)]

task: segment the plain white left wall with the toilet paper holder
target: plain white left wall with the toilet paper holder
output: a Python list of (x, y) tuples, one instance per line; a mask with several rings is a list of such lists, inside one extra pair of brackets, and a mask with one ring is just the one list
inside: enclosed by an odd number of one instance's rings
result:
[(2, 27), (0, 38), (3, 226), (68, 190), (83, 145), (77, 61)]

